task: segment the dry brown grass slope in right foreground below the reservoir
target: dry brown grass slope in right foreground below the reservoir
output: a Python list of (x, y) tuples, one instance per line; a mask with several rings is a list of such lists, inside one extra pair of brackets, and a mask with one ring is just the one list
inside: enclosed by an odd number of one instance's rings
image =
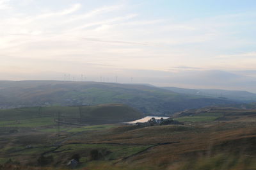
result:
[[(231, 121), (144, 128), (125, 125), (100, 131), (67, 134), (63, 144), (153, 145), (140, 154), (120, 158), (117, 164), (113, 164), (116, 161), (94, 161), (88, 162), (84, 169), (255, 168), (256, 165), (252, 161), (256, 158), (256, 121), (252, 121), (255, 117), (236, 117)], [(67, 156), (64, 153), (59, 154), (60, 160)]]

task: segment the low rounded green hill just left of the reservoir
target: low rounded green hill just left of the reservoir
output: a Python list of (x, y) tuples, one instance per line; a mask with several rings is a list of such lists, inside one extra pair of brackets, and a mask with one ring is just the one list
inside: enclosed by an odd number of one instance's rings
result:
[(54, 124), (54, 120), (77, 124), (106, 124), (132, 121), (140, 118), (143, 118), (141, 112), (122, 104), (0, 109), (1, 124), (12, 127), (51, 125)]

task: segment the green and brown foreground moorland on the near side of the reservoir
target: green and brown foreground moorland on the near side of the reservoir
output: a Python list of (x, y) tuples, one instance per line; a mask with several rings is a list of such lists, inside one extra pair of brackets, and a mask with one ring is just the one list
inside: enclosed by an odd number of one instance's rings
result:
[[(87, 112), (97, 114), (102, 107), (88, 107)], [(28, 109), (12, 111), (17, 116), (35, 112), (36, 107)], [(60, 110), (43, 108), (42, 114), (51, 109)], [(66, 116), (79, 108), (68, 109)], [(2, 116), (0, 120), (0, 169), (68, 169), (75, 156), (77, 169), (255, 169), (255, 110), (207, 107), (186, 113), (180, 115), (191, 117), (185, 125), (61, 124), (59, 128), (47, 117), (32, 118), (30, 126), (25, 126), (30, 120), (20, 120), (12, 127), (14, 116), (7, 119), (6, 113), (6, 120)], [(227, 119), (194, 121), (189, 114)]]

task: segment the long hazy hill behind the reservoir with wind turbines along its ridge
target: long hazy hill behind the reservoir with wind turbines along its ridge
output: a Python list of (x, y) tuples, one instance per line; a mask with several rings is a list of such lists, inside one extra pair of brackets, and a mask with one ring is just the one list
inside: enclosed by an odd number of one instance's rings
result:
[(2, 108), (110, 103), (130, 105), (146, 114), (171, 114), (184, 109), (233, 102), (220, 98), (182, 95), (141, 84), (69, 81), (0, 82)]

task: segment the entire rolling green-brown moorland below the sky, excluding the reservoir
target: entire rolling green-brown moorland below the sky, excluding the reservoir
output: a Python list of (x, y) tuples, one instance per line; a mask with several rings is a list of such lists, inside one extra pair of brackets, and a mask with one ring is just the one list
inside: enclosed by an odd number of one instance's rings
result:
[[(256, 168), (255, 103), (102, 82), (3, 82), (0, 94), (0, 169)], [(125, 123), (148, 115), (172, 123)]]

